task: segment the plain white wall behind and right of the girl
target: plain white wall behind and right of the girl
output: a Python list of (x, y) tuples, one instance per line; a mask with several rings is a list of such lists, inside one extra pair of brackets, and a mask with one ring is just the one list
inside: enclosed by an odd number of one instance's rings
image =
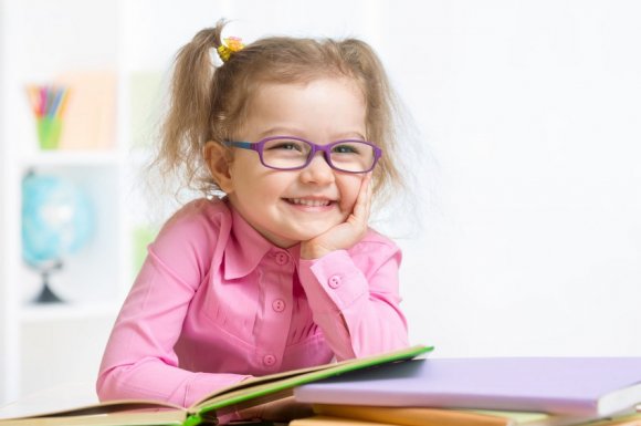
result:
[(150, 64), (219, 15), (246, 41), (357, 35), (379, 51), (422, 153), (422, 225), (399, 239), (413, 342), (641, 355), (641, 3), (148, 4)]

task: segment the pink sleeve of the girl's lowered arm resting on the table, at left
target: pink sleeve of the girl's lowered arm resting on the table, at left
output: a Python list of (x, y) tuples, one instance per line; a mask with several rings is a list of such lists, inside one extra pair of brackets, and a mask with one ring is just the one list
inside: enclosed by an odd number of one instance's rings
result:
[(182, 370), (174, 351), (189, 303), (208, 276), (198, 253), (213, 242), (202, 228), (198, 221), (169, 224), (149, 247), (103, 355), (96, 383), (102, 401), (143, 398), (187, 407), (249, 377)]

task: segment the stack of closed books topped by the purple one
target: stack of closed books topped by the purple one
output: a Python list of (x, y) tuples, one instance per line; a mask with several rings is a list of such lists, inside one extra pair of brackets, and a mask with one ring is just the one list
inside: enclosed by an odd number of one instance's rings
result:
[(641, 426), (640, 357), (424, 359), (298, 386), (291, 426)]

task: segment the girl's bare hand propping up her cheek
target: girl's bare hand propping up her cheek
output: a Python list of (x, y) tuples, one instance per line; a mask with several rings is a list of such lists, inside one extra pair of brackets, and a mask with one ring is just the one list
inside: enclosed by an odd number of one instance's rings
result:
[(301, 243), (302, 259), (318, 259), (332, 251), (348, 249), (365, 237), (371, 206), (371, 174), (362, 179), (351, 215), (334, 228)]

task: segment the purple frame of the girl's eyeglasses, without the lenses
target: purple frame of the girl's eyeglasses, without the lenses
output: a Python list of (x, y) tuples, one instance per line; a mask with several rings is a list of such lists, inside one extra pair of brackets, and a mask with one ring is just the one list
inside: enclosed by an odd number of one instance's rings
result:
[[(312, 150), (307, 155), (307, 159), (305, 160), (305, 164), (303, 164), (302, 166), (297, 166), (297, 167), (286, 167), (286, 168), (270, 166), (270, 165), (265, 164), (265, 162), (263, 159), (263, 147), (265, 146), (265, 144), (267, 142), (276, 141), (276, 139), (291, 139), (291, 141), (298, 141), (298, 142), (304, 142), (304, 143), (308, 144), (312, 147)], [(336, 145), (345, 144), (348, 142), (358, 142), (359, 144), (368, 145), (374, 149), (374, 160), (371, 163), (371, 167), (369, 167), (367, 170), (353, 172), (353, 170), (345, 170), (343, 168), (336, 167), (332, 163), (332, 150), (330, 149)], [(304, 138), (297, 137), (297, 136), (269, 136), (269, 137), (265, 137), (263, 139), (260, 139), (259, 142), (223, 141), (222, 144), (224, 146), (228, 146), (228, 147), (255, 150), (259, 154), (259, 158), (261, 160), (261, 164), (267, 168), (273, 169), (273, 170), (301, 170), (301, 169), (307, 167), (312, 163), (312, 160), (316, 156), (316, 153), (322, 152), (323, 157), (325, 158), (325, 163), (327, 163), (327, 165), (329, 167), (332, 167), (334, 170), (338, 170), (338, 172), (343, 172), (343, 173), (364, 174), (364, 173), (369, 173), (369, 172), (374, 170), (374, 168), (376, 167), (376, 164), (378, 163), (378, 160), (382, 156), (381, 148), (379, 148), (378, 146), (376, 146), (371, 142), (361, 141), (361, 139), (340, 139), (340, 141), (330, 142), (327, 145), (319, 145), (319, 144), (313, 143), (312, 141), (307, 141), (307, 139), (304, 139)]]

